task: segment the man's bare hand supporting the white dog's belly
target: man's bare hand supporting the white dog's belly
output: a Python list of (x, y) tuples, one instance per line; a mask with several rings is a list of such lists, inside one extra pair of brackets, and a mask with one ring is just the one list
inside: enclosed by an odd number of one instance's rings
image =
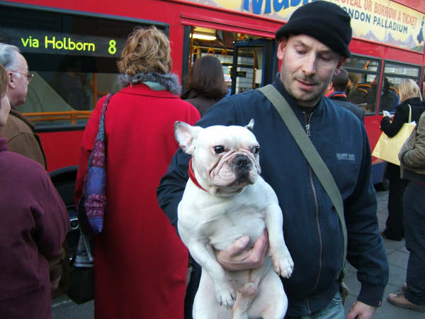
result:
[(263, 234), (251, 249), (247, 248), (249, 237), (244, 235), (234, 242), (227, 250), (217, 252), (217, 262), (226, 270), (246, 270), (261, 267), (268, 252), (268, 233)]

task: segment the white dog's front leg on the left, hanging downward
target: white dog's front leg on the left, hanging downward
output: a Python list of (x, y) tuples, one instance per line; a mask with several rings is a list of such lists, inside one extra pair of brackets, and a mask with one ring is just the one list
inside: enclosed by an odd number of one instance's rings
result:
[(203, 271), (205, 270), (210, 275), (214, 283), (217, 302), (220, 303), (220, 306), (232, 308), (236, 292), (227, 279), (225, 269), (217, 262), (211, 245), (204, 241), (193, 240), (188, 248), (193, 259), (200, 264)]

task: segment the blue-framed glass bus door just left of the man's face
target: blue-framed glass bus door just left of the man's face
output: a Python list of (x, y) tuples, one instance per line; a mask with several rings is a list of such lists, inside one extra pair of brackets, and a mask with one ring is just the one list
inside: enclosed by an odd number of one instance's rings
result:
[(234, 42), (232, 94), (273, 82), (278, 67), (275, 47), (273, 39), (242, 39)]

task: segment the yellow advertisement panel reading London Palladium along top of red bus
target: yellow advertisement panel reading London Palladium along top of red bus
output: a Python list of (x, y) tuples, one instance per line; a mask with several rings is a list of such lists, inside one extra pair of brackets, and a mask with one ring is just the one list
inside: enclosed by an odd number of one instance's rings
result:
[[(288, 21), (298, 7), (311, 1), (190, 0), (218, 8)], [(351, 16), (353, 37), (409, 50), (424, 51), (424, 14), (388, 0), (329, 0)]]

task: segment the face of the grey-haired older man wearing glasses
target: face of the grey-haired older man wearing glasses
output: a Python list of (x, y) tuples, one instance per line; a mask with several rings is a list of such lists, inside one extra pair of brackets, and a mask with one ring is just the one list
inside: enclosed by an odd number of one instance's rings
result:
[(14, 106), (21, 105), (26, 101), (28, 91), (28, 82), (26, 74), (28, 74), (28, 64), (20, 53), (15, 52), (16, 63), (13, 68), (7, 69), (9, 89), (8, 98)]

